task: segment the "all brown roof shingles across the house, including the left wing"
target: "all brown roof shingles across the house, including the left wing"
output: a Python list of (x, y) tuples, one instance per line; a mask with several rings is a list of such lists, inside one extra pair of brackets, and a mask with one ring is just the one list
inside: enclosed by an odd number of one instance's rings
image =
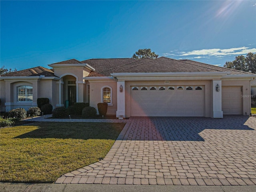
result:
[[(95, 68), (89, 77), (111, 76), (111, 73), (146, 73), (146, 72), (228, 72), (230, 74), (250, 74), (229, 68), (214, 66), (192, 60), (176, 60), (167, 57), (157, 59), (144, 58), (109, 58), (88, 59), (78, 61), (70, 59), (54, 64), (88, 64)], [(2, 76), (54, 76), (54, 70), (44, 67), (34, 67), (26, 70), (5, 74)]]

